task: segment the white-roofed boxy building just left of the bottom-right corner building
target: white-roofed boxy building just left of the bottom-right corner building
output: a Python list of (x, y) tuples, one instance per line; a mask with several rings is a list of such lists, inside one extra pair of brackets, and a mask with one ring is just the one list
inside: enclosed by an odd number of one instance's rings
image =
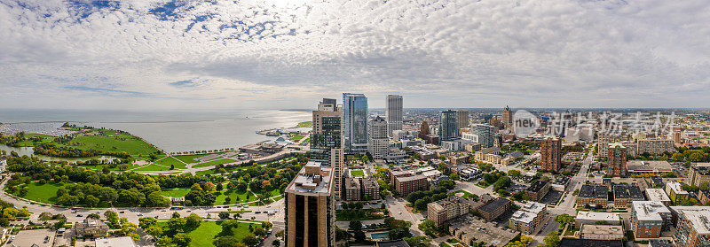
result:
[(631, 207), (631, 230), (636, 238), (658, 238), (670, 227), (673, 215), (661, 202), (637, 201)]

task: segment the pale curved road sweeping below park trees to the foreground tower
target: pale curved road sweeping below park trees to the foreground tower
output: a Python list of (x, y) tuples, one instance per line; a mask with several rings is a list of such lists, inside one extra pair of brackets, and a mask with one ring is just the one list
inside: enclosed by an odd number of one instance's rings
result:
[[(270, 205), (262, 205), (262, 206), (241, 206), (241, 205), (229, 205), (228, 208), (222, 208), (224, 206), (220, 206), (220, 208), (217, 208), (217, 206), (185, 206), (184, 209), (182, 210), (170, 210), (170, 207), (163, 207), (163, 208), (142, 208), (142, 207), (132, 207), (132, 208), (117, 208), (117, 207), (112, 207), (112, 208), (92, 208), (92, 209), (86, 209), (86, 208), (77, 208), (77, 209), (72, 209), (72, 208), (66, 208), (66, 207), (59, 207), (59, 206), (53, 206), (53, 205), (44, 205), (42, 203), (37, 203), (37, 202), (32, 202), (28, 201), (25, 199), (18, 199), (16, 197), (12, 197), (5, 193), (4, 187), (5, 184), (7, 183), (7, 179), (2, 181), (0, 183), (0, 199), (3, 199), (4, 201), (8, 203), (12, 203), (16, 208), (23, 208), (26, 207), (29, 212), (32, 212), (32, 214), (29, 217), (29, 220), (33, 222), (41, 222), (42, 220), (39, 220), (39, 215), (42, 212), (51, 212), (52, 214), (58, 214), (61, 213), (64, 216), (67, 216), (67, 222), (78, 222), (86, 218), (87, 215), (91, 213), (97, 213), (99, 214), (102, 218), (104, 217), (104, 212), (110, 210), (114, 212), (119, 212), (118, 216), (119, 217), (125, 217), (127, 218), (130, 222), (138, 224), (138, 219), (142, 217), (158, 217), (158, 220), (166, 220), (170, 219), (172, 216), (173, 212), (178, 212), (180, 213), (181, 216), (185, 217), (190, 215), (190, 213), (195, 213), (203, 218), (207, 218), (208, 214), (211, 216), (210, 218), (212, 219), (217, 219), (217, 213), (218, 212), (239, 212), (241, 210), (244, 211), (251, 211), (251, 212), (241, 212), (241, 218), (240, 220), (252, 220), (251, 218), (254, 217), (254, 220), (259, 220), (259, 221), (269, 221), (272, 223), (283, 223), (284, 221), (284, 208), (283, 208), (283, 198), (280, 200), (270, 204)], [(278, 197), (278, 196), (277, 196)], [(248, 204), (248, 203), (245, 203)], [(76, 211), (75, 213), (73, 213)], [(260, 213), (256, 213), (260, 212)], [(273, 212), (274, 214), (268, 215), (266, 212)], [(79, 217), (77, 215), (82, 215), (82, 217)], [(20, 220), (24, 221), (24, 220)]]

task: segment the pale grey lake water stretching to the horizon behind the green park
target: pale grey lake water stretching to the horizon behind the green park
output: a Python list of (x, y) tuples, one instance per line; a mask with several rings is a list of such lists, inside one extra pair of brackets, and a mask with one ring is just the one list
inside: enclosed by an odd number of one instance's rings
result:
[[(295, 111), (201, 111), (128, 112), (67, 110), (0, 110), (0, 122), (13, 123), (32, 132), (46, 132), (63, 122), (106, 127), (138, 135), (164, 151), (202, 151), (239, 148), (272, 140), (256, 131), (295, 127), (311, 120), (311, 112)], [(38, 127), (40, 126), (40, 127)]]

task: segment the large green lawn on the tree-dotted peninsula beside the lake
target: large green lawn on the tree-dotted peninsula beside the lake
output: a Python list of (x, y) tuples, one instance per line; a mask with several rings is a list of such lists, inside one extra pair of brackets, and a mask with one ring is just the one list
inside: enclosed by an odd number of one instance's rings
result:
[(153, 145), (133, 135), (119, 134), (110, 130), (100, 130), (102, 135), (76, 136), (67, 146), (80, 150), (114, 151), (138, 156), (147, 156), (158, 151)]

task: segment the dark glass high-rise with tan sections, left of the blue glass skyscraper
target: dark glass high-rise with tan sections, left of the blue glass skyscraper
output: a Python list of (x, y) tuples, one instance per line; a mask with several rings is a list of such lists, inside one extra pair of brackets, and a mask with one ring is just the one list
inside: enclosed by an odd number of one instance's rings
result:
[(319, 111), (313, 111), (311, 133), (311, 160), (323, 166), (334, 168), (335, 197), (341, 196), (343, 184), (343, 146), (341, 144), (342, 111), (335, 99), (324, 98), (318, 104)]

